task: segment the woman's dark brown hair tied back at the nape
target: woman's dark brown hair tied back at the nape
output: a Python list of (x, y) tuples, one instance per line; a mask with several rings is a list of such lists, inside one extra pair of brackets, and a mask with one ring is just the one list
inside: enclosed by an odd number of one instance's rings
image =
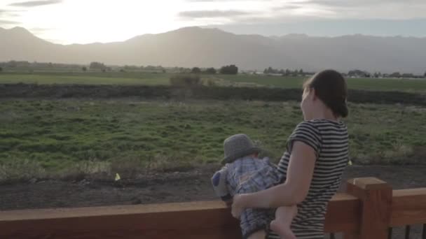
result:
[(348, 116), (348, 87), (341, 73), (334, 70), (320, 71), (305, 82), (303, 89), (315, 89), (315, 95), (336, 117)]

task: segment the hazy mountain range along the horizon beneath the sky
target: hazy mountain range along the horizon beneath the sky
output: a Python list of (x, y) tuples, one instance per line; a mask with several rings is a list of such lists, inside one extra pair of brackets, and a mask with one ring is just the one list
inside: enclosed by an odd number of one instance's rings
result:
[(241, 69), (259, 71), (271, 66), (305, 71), (335, 68), (422, 74), (426, 71), (426, 38), (360, 34), (267, 37), (186, 27), (122, 42), (60, 45), (38, 38), (22, 27), (0, 28), (0, 61), (9, 60), (184, 67), (235, 64)]

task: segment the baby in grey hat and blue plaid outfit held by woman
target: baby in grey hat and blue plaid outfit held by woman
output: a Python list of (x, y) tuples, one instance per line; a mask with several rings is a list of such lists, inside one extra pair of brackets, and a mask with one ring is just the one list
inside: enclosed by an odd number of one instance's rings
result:
[[(268, 158), (259, 159), (259, 147), (254, 147), (252, 140), (245, 134), (236, 134), (224, 141), (225, 164), (214, 173), (212, 184), (217, 196), (232, 204), (235, 194), (246, 194), (268, 189), (280, 184), (280, 173)], [(273, 220), (273, 210), (247, 208), (240, 217), (242, 238), (255, 238), (259, 231), (268, 230)], [(270, 229), (281, 238), (295, 239), (291, 232), (291, 221), (296, 216), (296, 205), (280, 207), (275, 210), (275, 220)]]

